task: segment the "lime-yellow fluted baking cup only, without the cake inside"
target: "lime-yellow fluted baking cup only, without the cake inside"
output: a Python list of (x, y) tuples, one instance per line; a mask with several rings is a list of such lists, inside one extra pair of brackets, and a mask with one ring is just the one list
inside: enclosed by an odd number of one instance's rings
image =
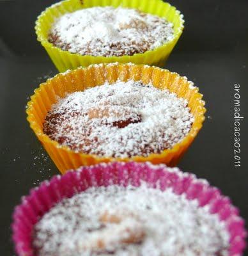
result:
[[(49, 30), (58, 17), (68, 12), (74, 12), (82, 8), (93, 6), (123, 6), (136, 8), (143, 12), (166, 18), (174, 25), (174, 38), (152, 51), (121, 57), (82, 56), (81, 54), (63, 51), (48, 42)], [(67, 69), (74, 69), (79, 66), (87, 67), (91, 64), (112, 63), (116, 61), (119, 63), (132, 62), (136, 64), (159, 65), (167, 59), (174, 45), (178, 42), (183, 31), (183, 23), (184, 20), (180, 12), (176, 10), (174, 6), (171, 6), (169, 3), (164, 3), (162, 0), (65, 0), (53, 4), (41, 13), (36, 20), (35, 31), (38, 41), (45, 47), (54, 65), (58, 68), (59, 72), (64, 72)]]

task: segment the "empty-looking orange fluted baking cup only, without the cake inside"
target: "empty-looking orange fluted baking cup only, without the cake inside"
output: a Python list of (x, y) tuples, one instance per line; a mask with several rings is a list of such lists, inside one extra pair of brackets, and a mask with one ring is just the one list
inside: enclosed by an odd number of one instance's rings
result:
[[(147, 157), (134, 156), (127, 158), (100, 157), (93, 154), (82, 154), (71, 150), (69, 147), (61, 146), (57, 141), (51, 140), (43, 132), (43, 122), (52, 104), (56, 103), (58, 97), (65, 97), (68, 93), (86, 90), (93, 86), (104, 84), (105, 81), (114, 83), (117, 80), (142, 81), (144, 84), (151, 82), (160, 90), (167, 89), (176, 93), (178, 97), (186, 99), (190, 112), (194, 116), (194, 122), (189, 134), (173, 148), (163, 150), (160, 154), (150, 154)], [(91, 65), (86, 68), (79, 67), (75, 70), (68, 70), (65, 73), (48, 79), (35, 90), (31, 100), (27, 103), (27, 120), (31, 129), (35, 132), (38, 140), (42, 143), (47, 153), (52, 158), (61, 173), (66, 170), (75, 169), (79, 166), (89, 166), (97, 163), (108, 163), (111, 161), (150, 161), (153, 164), (164, 163), (167, 166), (175, 166), (190, 144), (196, 138), (205, 120), (205, 102), (203, 95), (198, 88), (192, 86), (192, 82), (186, 77), (169, 72), (158, 67), (134, 64), (100, 64)]]

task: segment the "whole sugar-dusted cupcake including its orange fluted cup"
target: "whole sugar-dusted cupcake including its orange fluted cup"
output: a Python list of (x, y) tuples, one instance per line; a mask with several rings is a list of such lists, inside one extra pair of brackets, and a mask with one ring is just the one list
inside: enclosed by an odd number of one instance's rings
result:
[(64, 173), (109, 161), (176, 164), (201, 128), (202, 95), (185, 77), (143, 65), (93, 65), (35, 91), (27, 119)]

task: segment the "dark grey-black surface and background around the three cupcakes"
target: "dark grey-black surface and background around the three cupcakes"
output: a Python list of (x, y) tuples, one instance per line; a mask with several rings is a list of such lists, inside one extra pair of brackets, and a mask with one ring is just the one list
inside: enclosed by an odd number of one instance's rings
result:
[[(0, 0), (0, 248), (14, 255), (11, 215), (30, 188), (58, 174), (26, 122), (29, 96), (56, 74), (36, 42), (37, 15), (56, 1)], [(185, 15), (185, 30), (166, 68), (187, 76), (206, 100), (206, 121), (179, 164), (232, 198), (248, 220), (248, 1), (171, 0)], [(241, 86), (241, 167), (234, 167), (233, 95)], [(248, 253), (245, 253), (248, 255)]]

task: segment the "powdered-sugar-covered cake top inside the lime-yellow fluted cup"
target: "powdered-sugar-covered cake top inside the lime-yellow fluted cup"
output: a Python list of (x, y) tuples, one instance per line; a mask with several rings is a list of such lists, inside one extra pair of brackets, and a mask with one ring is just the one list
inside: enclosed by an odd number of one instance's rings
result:
[(54, 22), (49, 42), (91, 56), (143, 53), (173, 40), (173, 24), (130, 8), (93, 7), (66, 13)]

